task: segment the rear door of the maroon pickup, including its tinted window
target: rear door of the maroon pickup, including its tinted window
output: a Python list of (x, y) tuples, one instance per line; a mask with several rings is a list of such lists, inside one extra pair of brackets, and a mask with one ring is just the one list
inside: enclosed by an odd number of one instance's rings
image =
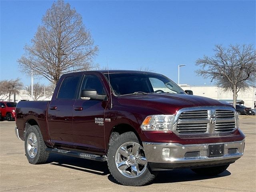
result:
[(48, 107), (48, 128), (54, 145), (73, 145), (72, 116), (82, 75), (66, 76)]

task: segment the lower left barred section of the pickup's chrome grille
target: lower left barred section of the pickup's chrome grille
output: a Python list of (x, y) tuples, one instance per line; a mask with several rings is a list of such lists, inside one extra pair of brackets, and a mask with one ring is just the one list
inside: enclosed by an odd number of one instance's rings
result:
[(207, 123), (178, 124), (176, 130), (178, 133), (205, 133), (207, 130)]

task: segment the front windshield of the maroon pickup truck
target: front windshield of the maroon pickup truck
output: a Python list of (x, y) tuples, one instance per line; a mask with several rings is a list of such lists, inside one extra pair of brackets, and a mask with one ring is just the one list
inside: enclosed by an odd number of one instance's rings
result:
[[(105, 74), (108, 79), (108, 74)], [(170, 79), (160, 74), (110, 73), (110, 84), (117, 96), (126, 94), (174, 93), (186, 94)]]

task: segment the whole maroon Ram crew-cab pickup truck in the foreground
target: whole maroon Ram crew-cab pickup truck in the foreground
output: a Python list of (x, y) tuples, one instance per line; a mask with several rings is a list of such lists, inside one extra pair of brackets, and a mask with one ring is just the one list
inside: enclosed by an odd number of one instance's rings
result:
[(244, 154), (236, 110), (187, 93), (152, 72), (64, 74), (51, 101), (17, 104), (15, 132), (31, 164), (50, 152), (107, 161), (123, 185), (145, 185), (159, 170), (220, 174)]

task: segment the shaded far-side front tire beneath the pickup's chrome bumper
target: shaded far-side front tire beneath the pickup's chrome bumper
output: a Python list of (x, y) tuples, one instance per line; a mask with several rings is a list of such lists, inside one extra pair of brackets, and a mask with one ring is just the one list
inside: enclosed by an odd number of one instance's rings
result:
[(200, 175), (214, 176), (224, 172), (228, 166), (229, 164), (215, 167), (195, 168), (191, 170)]

